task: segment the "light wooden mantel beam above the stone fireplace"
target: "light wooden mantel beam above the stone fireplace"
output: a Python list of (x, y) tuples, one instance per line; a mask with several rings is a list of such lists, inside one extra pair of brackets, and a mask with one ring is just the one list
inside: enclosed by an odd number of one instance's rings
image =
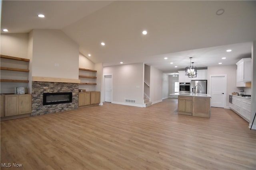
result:
[(79, 79), (32, 76), (34, 82), (80, 83)]

